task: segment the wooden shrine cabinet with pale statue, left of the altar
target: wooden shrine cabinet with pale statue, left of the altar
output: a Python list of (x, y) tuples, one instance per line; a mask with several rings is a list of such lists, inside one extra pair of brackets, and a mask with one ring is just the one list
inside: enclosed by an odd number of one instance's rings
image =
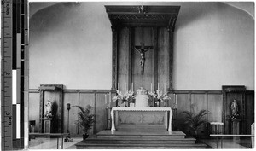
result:
[(41, 84), (39, 132), (63, 132), (63, 85)]

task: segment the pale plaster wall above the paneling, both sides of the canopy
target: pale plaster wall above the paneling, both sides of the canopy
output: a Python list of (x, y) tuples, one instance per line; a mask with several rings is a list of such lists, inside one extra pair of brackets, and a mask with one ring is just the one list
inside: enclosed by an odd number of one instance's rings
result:
[(181, 6), (174, 33), (175, 90), (221, 90), (228, 84), (254, 90), (254, 19), (212, 2), (57, 3), (40, 9), (30, 18), (30, 89), (39, 84), (111, 88), (108, 4)]

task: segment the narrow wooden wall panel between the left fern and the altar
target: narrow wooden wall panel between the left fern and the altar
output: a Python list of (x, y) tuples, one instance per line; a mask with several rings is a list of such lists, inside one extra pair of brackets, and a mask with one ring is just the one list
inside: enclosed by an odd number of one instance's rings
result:
[(105, 94), (96, 95), (96, 133), (107, 129)]

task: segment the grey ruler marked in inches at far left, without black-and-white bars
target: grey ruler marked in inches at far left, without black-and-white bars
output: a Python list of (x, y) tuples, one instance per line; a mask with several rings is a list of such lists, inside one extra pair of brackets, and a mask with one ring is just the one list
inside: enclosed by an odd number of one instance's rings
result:
[(13, 3), (11, 0), (2, 1), (1, 26), (1, 79), (3, 87), (1, 90), (1, 117), (2, 117), (2, 150), (13, 150), (13, 112), (12, 112), (12, 50), (13, 50)]

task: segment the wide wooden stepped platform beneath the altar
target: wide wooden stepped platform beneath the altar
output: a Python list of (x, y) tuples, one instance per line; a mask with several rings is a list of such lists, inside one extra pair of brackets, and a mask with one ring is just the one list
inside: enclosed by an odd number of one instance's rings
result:
[(78, 149), (165, 149), (206, 148), (185, 138), (182, 131), (100, 131), (96, 138), (87, 138), (76, 144)]

